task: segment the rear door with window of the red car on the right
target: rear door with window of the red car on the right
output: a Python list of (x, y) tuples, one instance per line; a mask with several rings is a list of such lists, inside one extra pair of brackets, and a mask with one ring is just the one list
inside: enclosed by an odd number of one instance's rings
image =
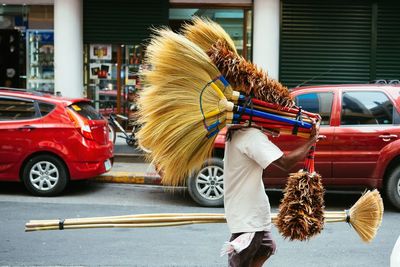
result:
[(340, 124), (335, 127), (335, 184), (375, 187), (373, 177), (380, 151), (399, 137), (399, 114), (383, 91), (342, 90)]

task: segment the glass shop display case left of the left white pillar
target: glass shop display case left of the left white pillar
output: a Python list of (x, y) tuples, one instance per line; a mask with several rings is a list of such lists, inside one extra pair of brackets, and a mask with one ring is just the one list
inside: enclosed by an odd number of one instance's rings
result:
[(54, 33), (28, 30), (26, 36), (27, 88), (54, 93)]

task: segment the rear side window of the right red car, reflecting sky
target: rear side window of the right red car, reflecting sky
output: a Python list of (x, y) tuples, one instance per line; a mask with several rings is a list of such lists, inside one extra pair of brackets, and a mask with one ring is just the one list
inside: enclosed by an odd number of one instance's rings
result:
[(344, 92), (341, 125), (393, 124), (399, 114), (383, 92)]

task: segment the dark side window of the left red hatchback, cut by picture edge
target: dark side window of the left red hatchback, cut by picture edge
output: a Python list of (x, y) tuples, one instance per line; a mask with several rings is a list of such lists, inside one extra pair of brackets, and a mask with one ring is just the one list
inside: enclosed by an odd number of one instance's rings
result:
[(26, 120), (35, 117), (33, 101), (0, 97), (0, 120)]

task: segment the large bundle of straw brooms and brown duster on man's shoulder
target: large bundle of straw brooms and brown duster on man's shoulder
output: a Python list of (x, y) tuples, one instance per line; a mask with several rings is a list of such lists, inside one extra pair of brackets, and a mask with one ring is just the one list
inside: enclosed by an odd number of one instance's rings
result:
[[(213, 53), (232, 57), (219, 67), (205, 51), (216, 42), (232, 43), (230, 54)], [(250, 120), (272, 132), (307, 137), (312, 121), (319, 119), (295, 107), (286, 87), (237, 55), (233, 41), (211, 21), (197, 19), (182, 35), (156, 30), (146, 61), (152, 70), (143, 75), (137, 137), (166, 185), (181, 185), (200, 168), (211, 156), (217, 133), (228, 124)]]

